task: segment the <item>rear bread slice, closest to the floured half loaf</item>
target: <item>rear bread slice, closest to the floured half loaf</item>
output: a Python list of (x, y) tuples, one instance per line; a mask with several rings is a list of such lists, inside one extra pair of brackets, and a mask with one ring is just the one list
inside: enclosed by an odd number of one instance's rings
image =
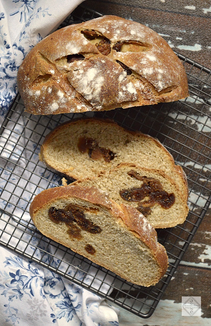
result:
[[(82, 153), (78, 144), (84, 139), (97, 141), (98, 149), (106, 149), (108, 157), (98, 155), (98, 150), (86, 149)], [(39, 157), (49, 168), (76, 180), (97, 176), (122, 162), (163, 170), (173, 178), (185, 200), (188, 198), (183, 169), (174, 164), (171, 154), (157, 139), (128, 131), (108, 119), (79, 119), (58, 126), (46, 136)]]

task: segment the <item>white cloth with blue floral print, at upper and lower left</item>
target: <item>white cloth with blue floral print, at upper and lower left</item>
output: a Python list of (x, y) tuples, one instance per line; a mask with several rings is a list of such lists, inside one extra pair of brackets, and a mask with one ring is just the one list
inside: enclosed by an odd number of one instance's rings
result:
[[(0, 1), (0, 124), (17, 94), (16, 76), (24, 57), (80, 2), (82, 0)], [(4, 136), (7, 139), (7, 135)], [(30, 219), (29, 215), (25, 218)], [(27, 250), (35, 248), (29, 246)], [(0, 253), (1, 326), (119, 325), (118, 309), (99, 296), (5, 247), (0, 246)], [(40, 255), (37, 249), (35, 256)], [(46, 261), (50, 259), (46, 254)], [(56, 264), (57, 261), (55, 267)], [(108, 288), (104, 290), (107, 293)]]

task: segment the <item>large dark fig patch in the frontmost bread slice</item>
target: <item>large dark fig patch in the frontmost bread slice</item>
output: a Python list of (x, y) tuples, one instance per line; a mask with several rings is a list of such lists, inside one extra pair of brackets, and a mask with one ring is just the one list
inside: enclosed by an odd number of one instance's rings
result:
[[(100, 233), (102, 231), (101, 228), (85, 217), (82, 208), (83, 207), (72, 204), (65, 207), (65, 209), (51, 207), (48, 211), (48, 215), (54, 223), (58, 224), (60, 222), (65, 222), (68, 226), (67, 232), (73, 238), (82, 238), (81, 229), (93, 234)], [(86, 210), (86, 208), (84, 208), (84, 210)]]

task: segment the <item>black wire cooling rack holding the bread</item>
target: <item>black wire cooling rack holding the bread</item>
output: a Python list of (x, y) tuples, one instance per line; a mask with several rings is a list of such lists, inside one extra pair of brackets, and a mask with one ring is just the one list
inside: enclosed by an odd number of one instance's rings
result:
[[(82, 6), (62, 23), (87, 21), (100, 14)], [(177, 54), (188, 75), (184, 101), (82, 114), (38, 116), (24, 112), (18, 95), (0, 129), (0, 244), (64, 276), (130, 312), (148, 318), (155, 310), (211, 202), (211, 71)], [(41, 190), (61, 185), (38, 153), (44, 137), (60, 123), (78, 117), (112, 118), (119, 125), (157, 137), (188, 177), (189, 214), (182, 225), (158, 231), (169, 257), (166, 275), (149, 288), (133, 285), (112, 272), (44, 237), (28, 210)]]

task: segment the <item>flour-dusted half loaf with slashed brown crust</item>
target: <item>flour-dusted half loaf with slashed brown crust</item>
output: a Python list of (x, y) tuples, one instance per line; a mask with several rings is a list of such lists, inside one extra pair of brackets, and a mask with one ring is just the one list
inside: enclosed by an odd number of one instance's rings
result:
[(18, 88), (33, 114), (102, 111), (188, 96), (185, 69), (150, 28), (103, 16), (41, 40), (19, 68)]

